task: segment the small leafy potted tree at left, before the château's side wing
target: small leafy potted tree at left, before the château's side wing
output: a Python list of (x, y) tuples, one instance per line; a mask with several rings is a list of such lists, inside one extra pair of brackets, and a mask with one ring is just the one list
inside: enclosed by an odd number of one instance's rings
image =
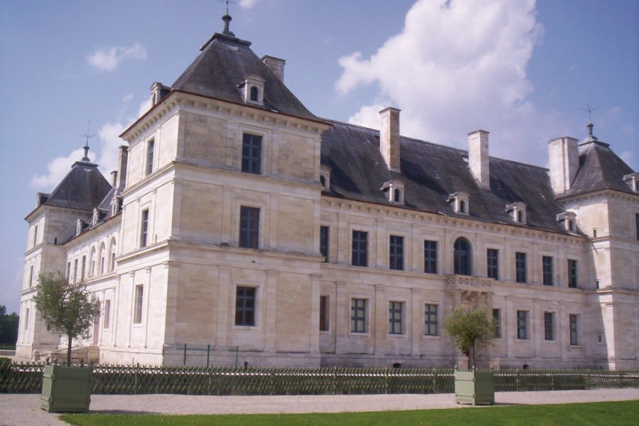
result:
[(70, 283), (60, 271), (38, 275), (38, 294), (33, 297), (40, 317), (54, 332), (67, 337), (67, 366), (71, 365), (73, 339), (89, 337), (99, 305), (84, 282)]

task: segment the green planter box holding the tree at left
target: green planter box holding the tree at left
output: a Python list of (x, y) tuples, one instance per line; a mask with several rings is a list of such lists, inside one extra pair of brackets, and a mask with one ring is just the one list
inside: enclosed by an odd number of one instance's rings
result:
[(48, 413), (87, 413), (92, 388), (92, 368), (45, 366), (41, 408)]

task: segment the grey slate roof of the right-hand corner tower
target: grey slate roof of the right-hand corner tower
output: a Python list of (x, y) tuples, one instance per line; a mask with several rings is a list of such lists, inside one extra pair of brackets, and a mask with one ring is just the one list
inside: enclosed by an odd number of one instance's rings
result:
[(623, 176), (634, 173), (610, 148), (608, 143), (586, 138), (579, 144), (579, 169), (570, 189), (559, 198), (599, 190), (633, 193)]

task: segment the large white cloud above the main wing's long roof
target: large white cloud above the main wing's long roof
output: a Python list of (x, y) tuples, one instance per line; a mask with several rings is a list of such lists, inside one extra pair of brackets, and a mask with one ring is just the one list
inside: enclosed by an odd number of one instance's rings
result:
[[(526, 67), (540, 35), (535, 0), (419, 0), (403, 31), (370, 58), (356, 52), (339, 59), (344, 70), (335, 87), (345, 96), (378, 85), (352, 123), (377, 128), (383, 100), (402, 109), (406, 136), (465, 148), (466, 133), (485, 129), (491, 155), (530, 160), (532, 149), (539, 162), (546, 142), (562, 134), (556, 114), (538, 114), (528, 99)], [(523, 146), (526, 153), (517, 152)]]

